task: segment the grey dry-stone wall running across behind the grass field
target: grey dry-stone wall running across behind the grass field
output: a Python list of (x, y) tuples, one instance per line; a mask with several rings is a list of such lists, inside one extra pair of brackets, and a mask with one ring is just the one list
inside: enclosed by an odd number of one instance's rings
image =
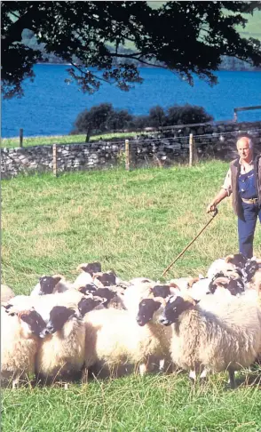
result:
[[(251, 136), (261, 151), (261, 122), (227, 124), (192, 124), (172, 126), (160, 132), (146, 131), (130, 140), (131, 166), (169, 166), (188, 162), (188, 137), (194, 133), (198, 158), (216, 157), (231, 160), (236, 156), (235, 141), (243, 134)], [(112, 168), (124, 162), (124, 141), (95, 141), (57, 145), (58, 172)], [(50, 172), (52, 145), (28, 148), (2, 148), (2, 178), (20, 172)]]

